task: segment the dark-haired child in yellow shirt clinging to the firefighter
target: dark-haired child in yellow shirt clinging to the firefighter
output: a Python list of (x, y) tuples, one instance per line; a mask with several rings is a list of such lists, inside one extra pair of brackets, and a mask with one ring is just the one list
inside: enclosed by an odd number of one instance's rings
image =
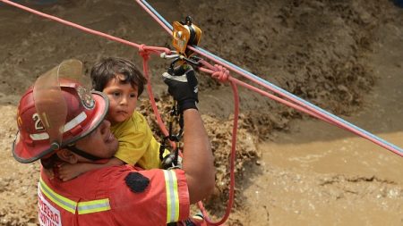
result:
[(119, 149), (107, 163), (60, 165), (59, 178), (71, 180), (82, 172), (124, 163), (136, 164), (146, 170), (159, 168), (159, 142), (152, 136), (144, 116), (135, 111), (138, 97), (147, 83), (141, 72), (127, 60), (110, 57), (96, 63), (90, 77), (92, 88), (109, 98), (106, 119), (111, 122)]

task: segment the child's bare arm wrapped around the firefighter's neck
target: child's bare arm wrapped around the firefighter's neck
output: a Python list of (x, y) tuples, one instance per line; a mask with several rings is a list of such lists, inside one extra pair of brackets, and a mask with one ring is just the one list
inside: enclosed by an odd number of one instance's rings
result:
[(67, 181), (78, 177), (81, 173), (89, 172), (92, 170), (98, 170), (107, 166), (123, 165), (124, 162), (116, 157), (113, 157), (107, 161), (107, 163), (63, 163), (59, 165), (59, 178), (60, 180)]

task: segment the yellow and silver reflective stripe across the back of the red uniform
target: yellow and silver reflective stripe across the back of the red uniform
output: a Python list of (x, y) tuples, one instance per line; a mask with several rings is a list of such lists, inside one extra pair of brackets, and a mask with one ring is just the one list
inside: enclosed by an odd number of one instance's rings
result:
[(48, 199), (52, 200), (52, 202), (54, 202), (56, 205), (60, 206), (70, 213), (74, 214), (75, 210), (77, 210), (79, 214), (97, 213), (110, 210), (109, 198), (77, 203), (67, 197), (63, 197), (57, 194), (54, 190), (52, 190), (52, 188), (49, 188), (42, 179), (39, 179), (38, 186), (40, 188), (40, 191)]

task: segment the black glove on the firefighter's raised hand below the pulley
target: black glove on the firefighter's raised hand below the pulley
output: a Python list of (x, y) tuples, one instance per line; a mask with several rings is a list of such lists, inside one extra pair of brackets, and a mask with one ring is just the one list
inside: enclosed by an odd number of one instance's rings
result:
[(177, 102), (179, 113), (190, 108), (197, 109), (196, 103), (199, 102), (197, 79), (189, 64), (182, 64), (173, 71), (164, 72), (162, 76), (168, 86), (168, 93)]

